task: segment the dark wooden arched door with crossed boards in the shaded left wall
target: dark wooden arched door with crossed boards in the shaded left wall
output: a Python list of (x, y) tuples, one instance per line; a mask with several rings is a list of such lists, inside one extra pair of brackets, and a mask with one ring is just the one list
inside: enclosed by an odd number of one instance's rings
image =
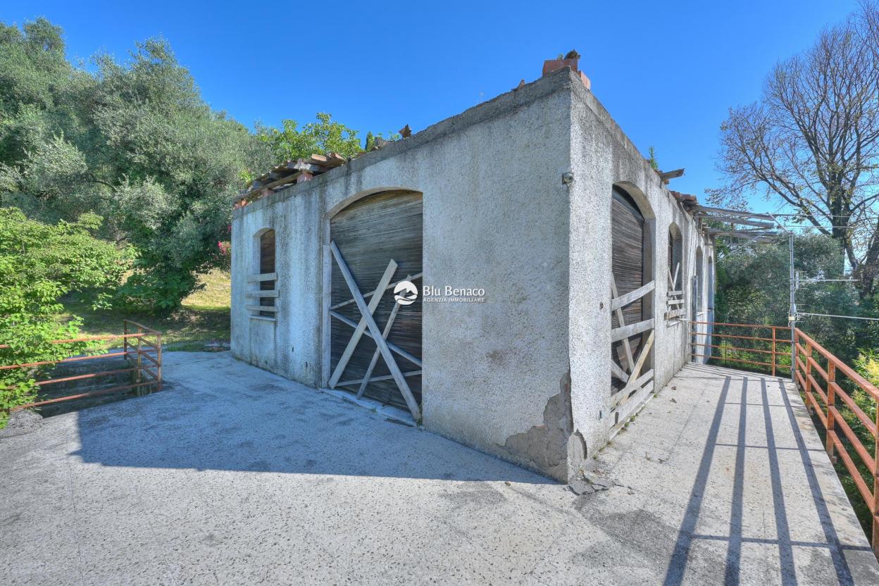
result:
[[(396, 303), (393, 288), (402, 280), (410, 280), (420, 293), (421, 194), (381, 192), (360, 199), (332, 218), (330, 233), (339, 254), (332, 264), (331, 277), (331, 386), (407, 408), (406, 398), (370, 336), (370, 329), (365, 329), (352, 344), (356, 331), (353, 326), (361, 321), (362, 314), (352, 302), (351, 284), (342, 272), (338, 262), (341, 260), (367, 303), (375, 295), (380, 297), (372, 314), (374, 323), (387, 332), (385, 339), (391, 355), (420, 405), (421, 295), (411, 305), (402, 306)], [(380, 285), (384, 286), (378, 291)], [(346, 349), (350, 357), (339, 368)]]

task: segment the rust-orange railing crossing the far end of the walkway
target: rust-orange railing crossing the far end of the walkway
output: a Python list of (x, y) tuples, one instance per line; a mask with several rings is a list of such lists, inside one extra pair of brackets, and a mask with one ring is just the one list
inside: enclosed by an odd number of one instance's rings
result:
[[(700, 331), (698, 326), (710, 331)], [(735, 332), (735, 333), (727, 333)], [(776, 376), (790, 373), (790, 328), (746, 323), (690, 322), (691, 355), (719, 363), (759, 366)], [(699, 343), (698, 340), (703, 342)]]

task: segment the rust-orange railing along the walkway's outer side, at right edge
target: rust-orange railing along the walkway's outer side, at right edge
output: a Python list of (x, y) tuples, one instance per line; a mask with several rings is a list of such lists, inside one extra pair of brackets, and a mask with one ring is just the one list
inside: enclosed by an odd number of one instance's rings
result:
[(795, 343), (796, 382), (813, 419), (824, 425), (827, 453), (834, 462), (842, 460), (868, 507), (879, 557), (879, 389), (799, 328)]

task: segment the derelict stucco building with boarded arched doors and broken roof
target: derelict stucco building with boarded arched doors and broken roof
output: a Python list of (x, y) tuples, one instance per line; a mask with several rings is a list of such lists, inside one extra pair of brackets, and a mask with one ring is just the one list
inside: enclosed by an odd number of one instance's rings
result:
[(688, 361), (714, 250), (577, 66), (262, 177), (232, 224), (236, 358), (578, 474)]

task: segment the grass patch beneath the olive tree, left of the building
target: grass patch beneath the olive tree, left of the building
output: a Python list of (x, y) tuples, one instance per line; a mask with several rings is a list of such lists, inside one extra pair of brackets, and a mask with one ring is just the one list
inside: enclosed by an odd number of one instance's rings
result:
[[(231, 303), (228, 272), (211, 271), (200, 280), (205, 288), (187, 297), (183, 307), (171, 315), (138, 314), (119, 309), (93, 311), (88, 304), (71, 300), (64, 303), (65, 311), (58, 318), (63, 322), (71, 315), (82, 317), (84, 336), (121, 334), (122, 320), (134, 320), (162, 332), (165, 350), (200, 351), (207, 342), (229, 342)], [(107, 344), (107, 347), (118, 346), (119, 340)]]

